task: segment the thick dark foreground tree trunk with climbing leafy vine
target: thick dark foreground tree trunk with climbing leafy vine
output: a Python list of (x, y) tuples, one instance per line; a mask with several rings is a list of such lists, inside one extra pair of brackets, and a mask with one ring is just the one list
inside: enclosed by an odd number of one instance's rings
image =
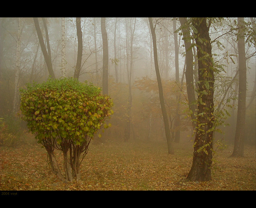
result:
[(193, 18), (198, 56), (198, 114), (193, 164), (187, 176), (191, 181), (211, 180), (212, 137), (214, 122), (214, 68), (207, 18)]

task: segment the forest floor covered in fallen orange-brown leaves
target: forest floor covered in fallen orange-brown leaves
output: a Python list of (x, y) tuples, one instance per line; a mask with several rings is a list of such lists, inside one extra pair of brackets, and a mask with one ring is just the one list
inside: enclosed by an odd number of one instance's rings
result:
[[(0, 190), (256, 190), (256, 148), (230, 158), (232, 145), (213, 157), (212, 180), (187, 181), (193, 142), (174, 144), (174, 155), (161, 142), (91, 144), (81, 168), (81, 181), (64, 183), (49, 170), (39, 144), (0, 147)], [(56, 152), (62, 161), (62, 154)]]

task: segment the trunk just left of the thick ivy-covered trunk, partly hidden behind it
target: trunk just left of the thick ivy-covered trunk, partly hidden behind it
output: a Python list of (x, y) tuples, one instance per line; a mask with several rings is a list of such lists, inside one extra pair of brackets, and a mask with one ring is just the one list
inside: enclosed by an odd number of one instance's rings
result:
[(195, 98), (195, 89), (194, 89), (194, 78), (193, 78), (193, 53), (190, 32), (188, 30), (187, 19), (185, 17), (180, 17), (180, 23), (182, 28), (183, 40), (186, 49), (186, 85), (187, 85), (187, 96), (188, 96), (188, 105), (191, 110), (191, 118), (193, 123), (193, 128), (196, 127), (196, 98)]

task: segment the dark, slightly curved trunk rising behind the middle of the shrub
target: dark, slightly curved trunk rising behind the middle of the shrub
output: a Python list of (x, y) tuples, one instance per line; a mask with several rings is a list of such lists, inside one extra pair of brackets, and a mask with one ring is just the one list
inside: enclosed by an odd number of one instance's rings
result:
[(77, 60), (74, 71), (74, 78), (78, 79), (81, 72), (82, 55), (83, 55), (83, 33), (81, 29), (81, 17), (76, 17), (76, 34), (77, 34)]

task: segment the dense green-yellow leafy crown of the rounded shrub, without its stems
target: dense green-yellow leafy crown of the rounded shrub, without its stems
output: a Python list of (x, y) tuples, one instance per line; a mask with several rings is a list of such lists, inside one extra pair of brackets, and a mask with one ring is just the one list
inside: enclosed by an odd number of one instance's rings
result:
[(73, 78), (28, 84), (27, 90), (20, 91), (23, 120), (39, 142), (56, 138), (60, 144), (63, 138), (69, 138), (80, 145), (88, 136), (92, 138), (106, 117), (113, 114), (113, 101), (108, 95)]

